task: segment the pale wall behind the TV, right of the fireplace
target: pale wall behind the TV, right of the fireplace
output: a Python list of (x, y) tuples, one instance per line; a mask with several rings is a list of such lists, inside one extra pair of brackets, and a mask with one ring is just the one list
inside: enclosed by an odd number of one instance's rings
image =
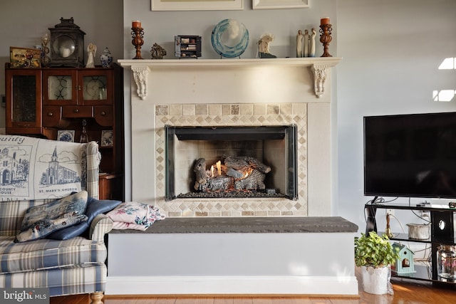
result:
[(437, 69), (456, 57), (456, 1), (343, 0), (337, 11), (338, 215), (364, 231), (363, 116), (456, 110), (456, 98), (432, 101), (456, 89), (456, 70)]

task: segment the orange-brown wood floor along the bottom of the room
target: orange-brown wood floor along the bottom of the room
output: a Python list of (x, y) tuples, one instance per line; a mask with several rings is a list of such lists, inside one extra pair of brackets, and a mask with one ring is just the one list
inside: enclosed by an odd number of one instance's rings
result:
[[(358, 277), (358, 273), (356, 275)], [(360, 278), (358, 278), (360, 282)], [(392, 280), (394, 295), (372, 295), (359, 287), (356, 297), (280, 297), (280, 296), (144, 296), (105, 295), (105, 304), (455, 304), (456, 289), (434, 288), (420, 281)], [(328, 286), (331, 288), (331, 286)], [(51, 298), (50, 304), (88, 304), (88, 295), (68, 295)]]

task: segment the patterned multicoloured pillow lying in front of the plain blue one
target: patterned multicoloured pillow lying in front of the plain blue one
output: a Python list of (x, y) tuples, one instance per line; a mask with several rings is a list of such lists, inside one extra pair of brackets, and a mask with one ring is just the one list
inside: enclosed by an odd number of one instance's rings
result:
[(84, 215), (87, 197), (88, 193), (81, 191), (27, 209), (16, 241), (41, 239), (53, 231), (87, 221), (87, 216)]

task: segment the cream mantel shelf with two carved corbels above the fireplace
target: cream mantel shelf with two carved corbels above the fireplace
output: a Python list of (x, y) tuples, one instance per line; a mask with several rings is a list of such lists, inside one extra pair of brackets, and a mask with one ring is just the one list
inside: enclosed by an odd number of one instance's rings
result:
[(316, 98), (324, 93), (324, 84), (328, 69), (336, 66), (341, 57), (312, 57), (312, 58), (223, 58), (223, 59), (120, 59), (123, 67), (130, 67), (136, 83), (138, 96), (145, 100), (147, 97), (147, 75), (160, 68), (252, 68), (264, 66), (303, 67), (310, 68), (314, 73), (314, 91)]

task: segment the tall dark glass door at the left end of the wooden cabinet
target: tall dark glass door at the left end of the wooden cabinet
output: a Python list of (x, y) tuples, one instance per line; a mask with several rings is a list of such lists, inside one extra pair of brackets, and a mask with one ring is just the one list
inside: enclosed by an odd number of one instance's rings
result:
[[(31, 134), (41, 127), (41, 81), (38, 70), (7, 70), (6, 127)], [(28, 129), (28, 130), (27, 130)], [(10, 129), (11, 131), (11, 129)]]

